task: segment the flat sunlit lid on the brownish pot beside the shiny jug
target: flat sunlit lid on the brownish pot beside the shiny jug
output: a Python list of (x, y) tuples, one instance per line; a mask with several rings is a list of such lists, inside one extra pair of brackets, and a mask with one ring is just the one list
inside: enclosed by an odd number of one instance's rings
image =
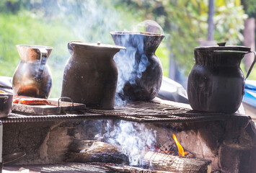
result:
[(69, 45), (71, 45), (72, 47), (82, 46), (84, 48), (92, 48), (92, 49), (98, 49), (98, 50), (120, 50), (120, 49), (126, 49), (123, 46), (102, 44), (100, 42), (97, 42), (97, 43), (84, 43), (84, 42), (80, 42), (80, 41), (71, 41), (71, 42), (69, 42)]

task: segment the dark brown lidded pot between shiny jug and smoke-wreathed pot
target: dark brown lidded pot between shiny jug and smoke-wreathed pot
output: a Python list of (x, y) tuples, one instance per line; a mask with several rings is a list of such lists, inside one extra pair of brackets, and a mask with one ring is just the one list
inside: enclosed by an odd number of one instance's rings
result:
[(66, 63), (61, 97), (87, 107), (110, 110), (115, 104), (118, 68), (113, 56), (116, 45), (70, 42), (71, 57)]

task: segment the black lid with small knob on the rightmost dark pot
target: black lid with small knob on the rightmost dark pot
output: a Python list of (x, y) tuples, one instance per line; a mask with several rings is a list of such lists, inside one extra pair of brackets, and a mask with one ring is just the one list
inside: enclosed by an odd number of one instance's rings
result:
[(226, 45), (226, 43), (217, 43), (218, 46), (201, 46), (194, 50), (199, 51), (213, 51), (213, 52), (250, 52), (250, 47), (239, 46), (239, 45)]

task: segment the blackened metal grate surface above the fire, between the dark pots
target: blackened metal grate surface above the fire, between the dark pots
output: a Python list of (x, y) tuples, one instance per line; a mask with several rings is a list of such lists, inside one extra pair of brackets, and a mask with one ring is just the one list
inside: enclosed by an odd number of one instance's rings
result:
[[(125, 107), (115, 107), (115, 110), (92, 110), (87, 112), (111, 115), (120, 120), (129, 120), (139, 123), (182, 123), (209, 120), (228, 120), (230, 114), (196, 112), (189, 108), (175, 105), (159, 104), (157, 102), (133, 102)], [(248, 119), (244, 117), (244, 119)]]

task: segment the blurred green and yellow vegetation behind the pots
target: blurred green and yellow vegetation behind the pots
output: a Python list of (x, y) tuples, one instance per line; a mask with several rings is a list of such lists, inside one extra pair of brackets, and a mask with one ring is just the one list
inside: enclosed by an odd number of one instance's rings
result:
[[(254, 0), (215, 0), (217, 42), (242, 45), (244, 19), (255, 15)], [(248, 6), (248, 8), (246, 7)], [(193, 66), (193, 48), (207, 39), (208, 0), (1, 0), (0, 75), (12, 76), (19, 64), (15, 45), (36, 44), (54, 48), (48, 59), (53, 74), (51, 97), (59, 97), (63, 68), (71, 40), (114, 44), (110, 31), (133, 30), (139, 22), (159, 23), (166, 38), (156, 55), (169, 75), (169, 59), (187, 76)], [(250, 79), (256, 79), (252, 71)]]

